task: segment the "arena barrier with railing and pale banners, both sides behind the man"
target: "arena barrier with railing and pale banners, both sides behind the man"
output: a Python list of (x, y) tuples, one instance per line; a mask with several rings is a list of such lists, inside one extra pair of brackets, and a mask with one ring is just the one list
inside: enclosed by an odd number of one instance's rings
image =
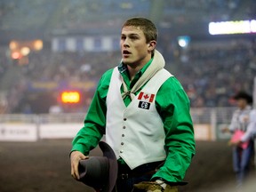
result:
[[(228, 139), (228, 135), (223, 134), (221, 129), (223, 126), (228, 126), (235, 109), (191, 108), (196, 139)], [(25, 138), (24, 140), (28, 140), (29, 137), (30, 140), (72, 138), (83, 127), (85, 115), (84, 113), (0, 115), (0, 139), (1, 137), (1, 140), (7, 140), (7, 137), (10, 140), (14, 140), (13, 138), (20, 140), (22, 137)]]

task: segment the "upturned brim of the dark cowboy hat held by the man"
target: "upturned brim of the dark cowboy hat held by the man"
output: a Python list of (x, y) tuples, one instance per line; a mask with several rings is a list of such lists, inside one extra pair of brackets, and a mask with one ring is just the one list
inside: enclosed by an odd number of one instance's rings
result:
[(103, 188), (103, 191), (111, 192), (113, 188), (115, 188), (117, 172), (118, 172), (116, 155), (113, 149), (108, 145), (108, 143), (104, 141), (100, 141), (99, 146), (103, 152), (103, 156), (108, 157), (108, 166), (109, 166), (108, 185), (106, 185), (106, 187)]

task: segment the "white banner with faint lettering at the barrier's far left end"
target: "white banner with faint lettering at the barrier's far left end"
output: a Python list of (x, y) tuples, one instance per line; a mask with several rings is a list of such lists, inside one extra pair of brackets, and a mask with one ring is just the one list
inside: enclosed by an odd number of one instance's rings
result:
[(36, 124), (0, 124), (0, 141), (36, 141)]

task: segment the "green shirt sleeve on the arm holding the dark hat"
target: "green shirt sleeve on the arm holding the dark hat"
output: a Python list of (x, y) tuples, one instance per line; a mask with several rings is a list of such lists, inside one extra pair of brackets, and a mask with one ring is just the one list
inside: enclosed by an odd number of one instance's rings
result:
[(76, 137), (72, 141), (73, 147), (71, 151), (77, 150), (84, 155), (88, 155), (92, 148), (98, 145), (103, 134), (105, 134), (107, 112), (106, 98), (112, 72), (113, 69), (110, 69), (101, 76), (90, 108), (85, 116), (84, 127), (77, 132)]

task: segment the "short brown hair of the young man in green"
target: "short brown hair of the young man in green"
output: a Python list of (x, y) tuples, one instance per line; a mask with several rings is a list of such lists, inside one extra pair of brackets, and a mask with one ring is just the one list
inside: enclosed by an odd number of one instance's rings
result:
[(146, 43), (152, 40), (157, 40), (157, 28), (151, 20), (146, 18), (132, 18), (124, 22), (123, 28), (126, 26), (140, 28), (146, 37)]

